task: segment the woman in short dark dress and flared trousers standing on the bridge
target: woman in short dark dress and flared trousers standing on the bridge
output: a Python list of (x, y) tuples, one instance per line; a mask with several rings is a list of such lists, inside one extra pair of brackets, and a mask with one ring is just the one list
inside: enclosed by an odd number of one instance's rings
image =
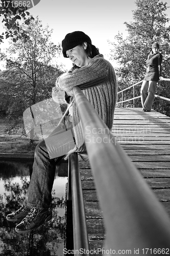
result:
[(144, 112), (150, 112), (154, 102), (156, 84), (161, 79), (162, 54), (159, 53), (159, 44), (154, 42), (152, 52), (147, 59), (147, 73), (143, 79), (140, 95)]

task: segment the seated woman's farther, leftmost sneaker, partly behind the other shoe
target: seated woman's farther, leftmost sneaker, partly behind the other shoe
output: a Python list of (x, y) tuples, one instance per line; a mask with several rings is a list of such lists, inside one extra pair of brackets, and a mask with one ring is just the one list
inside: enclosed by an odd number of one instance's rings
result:
[(30, 208), (22, 205), (17, 211), (12, 212), (12, 214), (7, 215), (7, 221), (21, 221), (25, 218), (30, 211)]

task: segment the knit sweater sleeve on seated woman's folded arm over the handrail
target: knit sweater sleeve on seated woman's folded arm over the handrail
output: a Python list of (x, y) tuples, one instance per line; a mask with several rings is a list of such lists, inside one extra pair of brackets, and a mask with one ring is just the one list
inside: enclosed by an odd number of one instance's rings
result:
[(108, 75), (108, 62), (103, 57), (94, 57), (80, 69), (75, 69), (61, 75), (56, 86), (63, 91), (70, 91), (75, 86), (87, 89), (104, 82)]

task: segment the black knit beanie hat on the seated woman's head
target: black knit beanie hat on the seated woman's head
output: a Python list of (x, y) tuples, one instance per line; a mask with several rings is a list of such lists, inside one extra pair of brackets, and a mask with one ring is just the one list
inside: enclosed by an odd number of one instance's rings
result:
[(82, 31), (75, 31), (66, 34), (65, 38), (62, 40), (63, 56), (67, 58), (66, 51), (81, 45), (83, 42), (91, 44), (90, 37)]

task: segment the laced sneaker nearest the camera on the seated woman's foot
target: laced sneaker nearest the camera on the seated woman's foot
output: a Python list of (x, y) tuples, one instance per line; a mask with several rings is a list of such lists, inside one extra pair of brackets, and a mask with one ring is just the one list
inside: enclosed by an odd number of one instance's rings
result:
[(31, 207), (29, 214), (16, 227), (18, 233), (29, 233), (52, 219), (52, 211), (48, 208)]

